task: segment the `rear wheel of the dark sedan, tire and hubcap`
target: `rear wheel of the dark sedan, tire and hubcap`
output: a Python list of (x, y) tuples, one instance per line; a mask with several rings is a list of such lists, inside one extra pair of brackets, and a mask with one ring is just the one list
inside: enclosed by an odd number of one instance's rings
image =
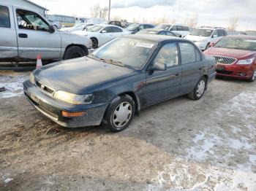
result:
[(199, 100), (203, 97), (203, 94), (206, 92), (206, 85), (206, 77), (201, 77), (198, 80), (197, 85), (195, 85), (194, 90), (192, 90), (192, 92), (188, 94), (188, 97), (192, 100)]

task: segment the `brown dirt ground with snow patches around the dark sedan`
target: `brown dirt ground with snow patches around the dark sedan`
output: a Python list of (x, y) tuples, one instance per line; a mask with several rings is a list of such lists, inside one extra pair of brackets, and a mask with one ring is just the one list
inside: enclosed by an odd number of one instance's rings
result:
[(0, 190), (256, 190), (256, 82), (216, 79), (120, 133), (61, 128), (0, 71)]

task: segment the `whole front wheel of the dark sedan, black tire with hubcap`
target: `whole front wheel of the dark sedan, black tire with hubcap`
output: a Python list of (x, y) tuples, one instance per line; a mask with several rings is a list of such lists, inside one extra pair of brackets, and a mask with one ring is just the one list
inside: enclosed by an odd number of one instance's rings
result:
[(102, 125), (110, 131), (119, 132), (129, 126), (134, 115), (135, 102), (132, 97), (126, 94), (121, 95), (114, 98), (108, 106), (104, 119), (102, 120)]

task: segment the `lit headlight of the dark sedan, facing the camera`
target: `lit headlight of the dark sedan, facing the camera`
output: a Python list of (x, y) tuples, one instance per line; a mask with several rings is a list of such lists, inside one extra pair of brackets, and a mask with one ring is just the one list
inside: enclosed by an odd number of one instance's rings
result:
[(56, 93), (54, 93), (54, 98), (57, 98), (61, 101), (65, 101), (69, 104), (80, 105), (80, 104), (91, 104), (94, 96), (92, 94), (76, 95), (76, 94), (68, 93), (64, 91), (56, 91)]

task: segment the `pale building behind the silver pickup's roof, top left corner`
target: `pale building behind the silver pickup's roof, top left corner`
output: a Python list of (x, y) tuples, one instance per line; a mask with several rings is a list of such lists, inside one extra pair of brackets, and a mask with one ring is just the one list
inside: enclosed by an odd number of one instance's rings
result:
[(21, 7), (26, 7), (28, 9), (34, 10), (34, 12), (39, 12), (41, 15), (45, 17), (48, 12), (48, 9), (46, 9), (45, 7), (35, 4), (29, 0), (0, 0), (0, 2), (3, 4), (6, 3), (6, 4), (18, 5)]

